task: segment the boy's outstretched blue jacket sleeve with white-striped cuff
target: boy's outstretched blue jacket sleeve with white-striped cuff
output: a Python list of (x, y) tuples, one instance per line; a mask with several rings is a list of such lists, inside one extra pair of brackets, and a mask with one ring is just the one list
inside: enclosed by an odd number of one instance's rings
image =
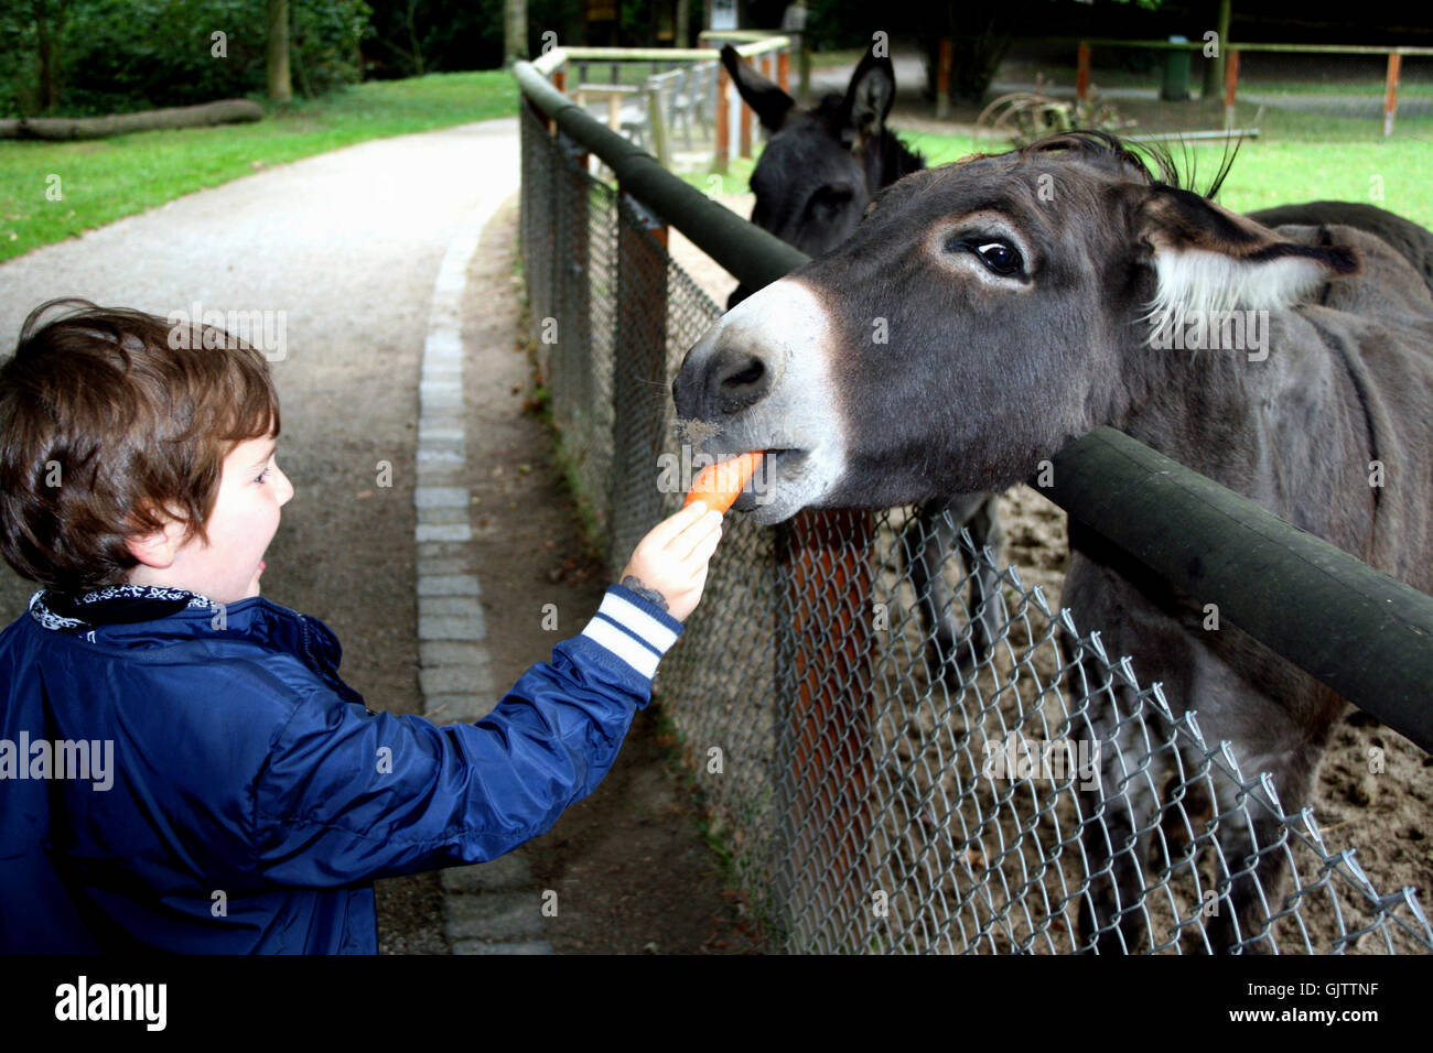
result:
[(612, 585), (582, 633), (477, 723), (305, 701), (255, 785), (255, 867), (268, 881), (334, 887), (481, 862), (545, 832), (606, 775), (681, 635), (679, 620)]

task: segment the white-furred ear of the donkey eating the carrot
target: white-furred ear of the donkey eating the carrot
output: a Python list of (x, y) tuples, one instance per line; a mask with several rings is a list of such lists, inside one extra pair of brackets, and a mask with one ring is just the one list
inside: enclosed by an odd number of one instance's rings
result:
[(1158, 278), (1151, 315), (1291, 307), (1358, 271), (1347, 245), (1285, 241), (1191, 191), (1155, 185), (1128, 193), (1135, 235)]

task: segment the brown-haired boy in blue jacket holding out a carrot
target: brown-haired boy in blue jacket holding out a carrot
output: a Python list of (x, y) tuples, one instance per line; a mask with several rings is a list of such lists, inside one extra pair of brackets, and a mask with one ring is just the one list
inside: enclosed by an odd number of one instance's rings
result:
[(0, 365), (0, 552), (43, 586), (0, 633), (0, 951), (371, 954), (374, 878), (502, 855), (596, 788), (721, 514), (659, 523), (483, 721), (373, 712), (327, 626), (259, 597), (294, 494), (267, 362), (172, 330), (52, 301)]

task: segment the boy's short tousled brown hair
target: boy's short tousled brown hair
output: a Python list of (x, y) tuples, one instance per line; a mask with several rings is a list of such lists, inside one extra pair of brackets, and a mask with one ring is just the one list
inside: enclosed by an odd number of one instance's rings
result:
[(0, 553), (52, 589), (119, 585), (138, 563), (126, 534), (166, 510), (208, 544), (224, 458), (278, 430), (268, 362), (222, 330), (42, 304), (0, 365)]

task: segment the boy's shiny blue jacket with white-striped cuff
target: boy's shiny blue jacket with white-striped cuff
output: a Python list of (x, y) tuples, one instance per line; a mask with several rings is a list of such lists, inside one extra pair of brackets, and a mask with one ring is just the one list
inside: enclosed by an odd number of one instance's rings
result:
[(92, 625), (42, 592), (0, 633), (0, 953), (377, 953), (374, 878), (545, 832), (682, 633), (612, 585), (489, 716), (438, 726), (368, 711), (314, 617), (118, 589), (175, 612)]

